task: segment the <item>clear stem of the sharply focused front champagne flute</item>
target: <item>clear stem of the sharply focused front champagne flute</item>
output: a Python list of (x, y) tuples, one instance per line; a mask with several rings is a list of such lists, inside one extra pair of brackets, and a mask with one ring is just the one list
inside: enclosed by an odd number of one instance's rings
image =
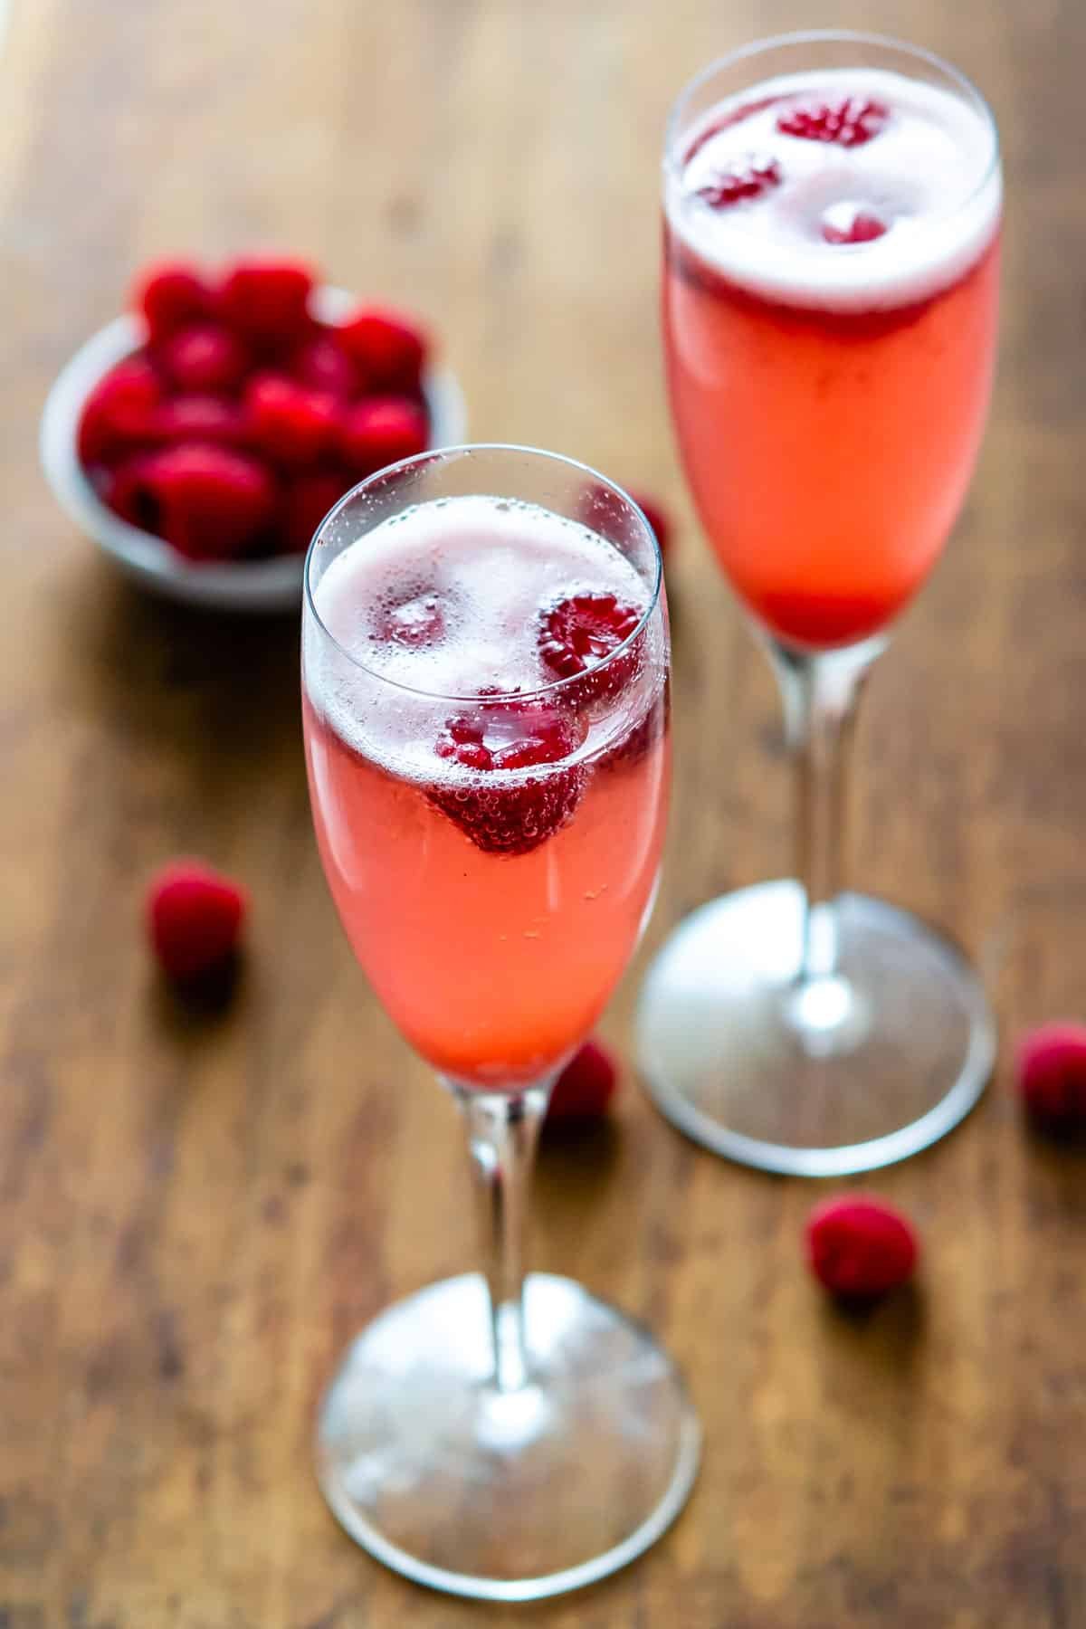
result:
[(518, 1391), (529, 1378), (524, 1344), (524, 1232), (539, 1127), (552, 1078), (516, 1095), (456, 1091), (475, 1170), (487, 1240), (493, 1383)]

